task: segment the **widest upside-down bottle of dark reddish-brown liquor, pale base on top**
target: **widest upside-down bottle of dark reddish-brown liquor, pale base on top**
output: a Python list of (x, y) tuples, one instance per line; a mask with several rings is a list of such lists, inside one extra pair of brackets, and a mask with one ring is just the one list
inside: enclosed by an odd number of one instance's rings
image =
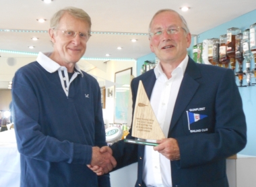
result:
[(236, 53), (235, 53), (235, 44), (236, 44), (236, 34), (241, 33), (241, 29), (236, 27), (231, 27), (227, 29), (226, 34), (226, 54), (230, 58), (230, 66), (231, 69), (234, 70), (236, 68)]

